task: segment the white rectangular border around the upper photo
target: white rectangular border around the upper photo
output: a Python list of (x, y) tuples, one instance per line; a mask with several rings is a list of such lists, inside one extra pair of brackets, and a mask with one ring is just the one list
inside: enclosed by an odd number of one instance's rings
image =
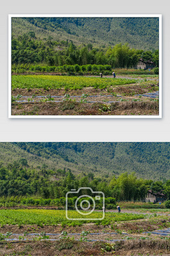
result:
[[(11, 18), (159, 18), (159, 115), (11, 115)], [(162, 14), (8, 14), (8, 118), (162, 118)]]

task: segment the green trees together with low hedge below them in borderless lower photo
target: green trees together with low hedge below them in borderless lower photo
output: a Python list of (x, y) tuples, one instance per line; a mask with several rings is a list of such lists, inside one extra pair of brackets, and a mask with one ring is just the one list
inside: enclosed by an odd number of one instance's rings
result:
[[(68, 161), (67, 158), (66, 160)], [(135, 173), (122, 173), (118, 178), (113, 176), (101, 180), (85, 174), (82, 178), (76, 178), (69, 170), (66, 173), (63, 171), (65, 173), (63, 177), (58, 175), (58, 178), (60, 177), (58, 181), (52, 181), (52, 173), (57, 176), (56, 171), (50, 171), (43, 167), (40, 172), (22, 167), (17, 170), (13, 165), (11, 165), (11, 170), (4, 167), (1, 167), (0, 170), (0, 206), (6, 207), (16, 205), (65, 207), (66, 193), (72, 188), (78, 190), (78, 188), (86, 186), (92, 188), (93, 191), (102, 191), (105, 194), (105, 208), (115, 209), (117, 200), (139, 201), (145, 199), (149, 188), (153, 191), (160, 191), (163, 188), (167, 191), (168, 188), (168, 183), (164, 185), (163, 182), (137, 179)], [(36, 198), (29, 197), (29, 195), (34, 195)], [(93, 194), (91, 196), (93, 197)], [(68, 198), (70, 208), (74, 209), (76, 199), (77, 197), (73, 196)], [(82, 200), (80, 199), (79, 204)], [(102, 200), (96, 202), (96, 208), (102, 208)]]

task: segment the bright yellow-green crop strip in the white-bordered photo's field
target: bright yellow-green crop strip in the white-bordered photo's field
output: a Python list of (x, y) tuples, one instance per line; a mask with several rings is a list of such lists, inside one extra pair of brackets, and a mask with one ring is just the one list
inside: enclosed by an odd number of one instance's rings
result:
[(100, 78), (100, 77), (74, 77), (60, 75), (13, 75), (11, 78), (12, 89), (83, 89), (94, 87), (105, 89), (109, 86), (137, 83), (135, 79), (127, 78)]

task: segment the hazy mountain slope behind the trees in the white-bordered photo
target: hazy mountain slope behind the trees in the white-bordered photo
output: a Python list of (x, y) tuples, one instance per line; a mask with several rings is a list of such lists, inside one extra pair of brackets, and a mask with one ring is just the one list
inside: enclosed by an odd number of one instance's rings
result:
[(34, 31), (37, 39), (72, 40), (76, 45), (159, 48), (159, 18), (12, 18), (12, 36)]

